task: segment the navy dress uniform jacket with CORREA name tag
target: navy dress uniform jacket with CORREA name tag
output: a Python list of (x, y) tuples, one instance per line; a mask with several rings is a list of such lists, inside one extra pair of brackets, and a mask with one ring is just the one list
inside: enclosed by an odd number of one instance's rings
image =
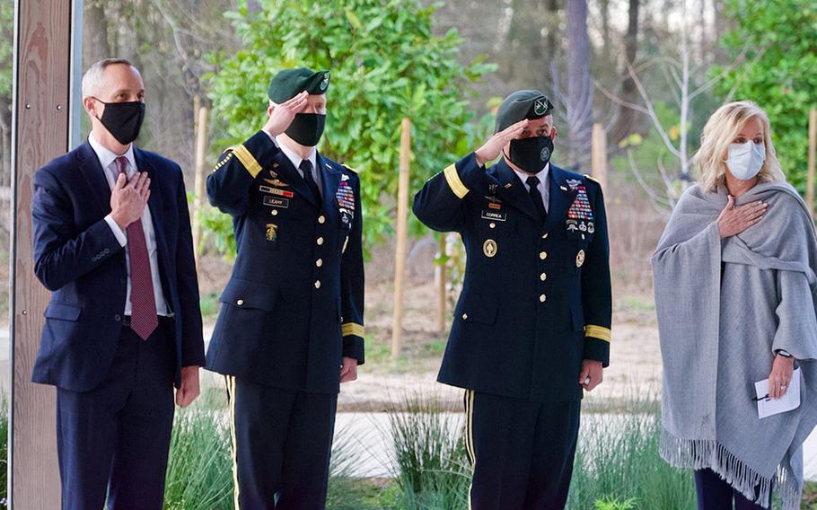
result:
[(470, 154), (426, 182), (414, 213), (436, 231), (460, 233), (467, 255), (438, 381), (520, 399), (580, 400), (582, 361), (606, 366), (610, 356), (601, 186), (551, 163), (543, 224), (504, 159), (486, 170)]

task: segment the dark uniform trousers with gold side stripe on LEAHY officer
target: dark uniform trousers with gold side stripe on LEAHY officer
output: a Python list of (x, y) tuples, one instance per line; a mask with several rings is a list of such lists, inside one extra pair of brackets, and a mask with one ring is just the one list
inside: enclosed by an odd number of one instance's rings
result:
[(337, 393), (226, 382), (236, 510), (324, 508)]

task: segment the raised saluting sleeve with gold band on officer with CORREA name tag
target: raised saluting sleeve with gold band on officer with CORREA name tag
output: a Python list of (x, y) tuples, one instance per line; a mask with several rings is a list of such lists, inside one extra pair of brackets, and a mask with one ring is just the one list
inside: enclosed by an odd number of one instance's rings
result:
[(479, 187), (485, 167), (473, 153), (426, 181), (414, 197), (414, 214), (438, 232), (460, 232), (465, 221), (464, 200)]

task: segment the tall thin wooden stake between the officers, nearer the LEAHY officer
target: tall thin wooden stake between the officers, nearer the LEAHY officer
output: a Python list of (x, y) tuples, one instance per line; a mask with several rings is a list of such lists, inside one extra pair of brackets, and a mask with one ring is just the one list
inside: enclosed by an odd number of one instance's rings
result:
[(403, 332), (403, 279), (406, 277), (406, 242), (409, 222), (409, 161), (411, 120), (403, 119), (400, 134), (400, 179), (397, 193), (397, 243), (394, 249), (394, 308), (391, 315), (391, 358), (400, 356)]

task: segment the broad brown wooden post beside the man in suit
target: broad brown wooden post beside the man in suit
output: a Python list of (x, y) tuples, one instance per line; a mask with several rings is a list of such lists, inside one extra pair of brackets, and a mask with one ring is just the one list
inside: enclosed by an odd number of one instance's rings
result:
[(9, 507), (59, 508), (56, 406), (52, 386), (33, 384), (48, 292), (34, 277), (31, 200), (34, 172), (66, 154), (71, 111), (72, 7), (75, 0), (17, 5), (14, 48), (12, 207), (12, 391)]

